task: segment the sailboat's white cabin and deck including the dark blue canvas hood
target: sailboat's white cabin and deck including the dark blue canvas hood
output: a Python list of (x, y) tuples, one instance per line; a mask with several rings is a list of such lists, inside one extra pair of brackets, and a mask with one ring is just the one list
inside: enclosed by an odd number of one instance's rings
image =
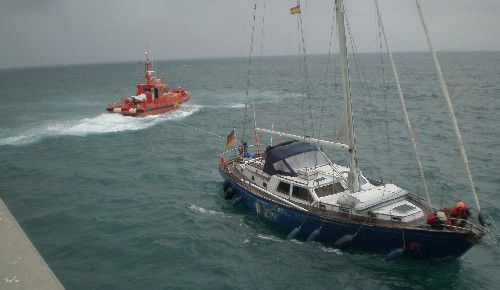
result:
[(360, 174), (360, 190), (351, 192), (349, 168), (332, 163), (311, 143), (290, 141), (269, 146), (255, 158), (240, 158), (235, 169), (244, 180), (299, 206), (397, 222), (424, 216), (407, 191), (394, 184), (370, 182)]

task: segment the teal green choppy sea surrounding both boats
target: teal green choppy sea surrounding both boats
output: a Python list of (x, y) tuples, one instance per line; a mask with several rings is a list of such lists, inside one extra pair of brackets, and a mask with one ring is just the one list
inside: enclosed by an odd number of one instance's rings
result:
[[(438, 56), (479, 200), (500, 225), (500, 53)], [(430, 55), (395, 60), (433, 202), (472, 204)], [(386, 261), (288, 241), (224, 200), (218, 154), (233, 127), (252, 139), (245, 103), (260, 127), (336, 138), (338, 59), (309, 57), (309, 88), (300, 63), (255, 59), (246, 97), (248, 59), (160, 61), (191, 99), (139, 119), (105, 112), (134, 93), (139, 62), (0, 70), (0, 197), (67, 289), (498, 289), (498, 246), (449, 262)], [(351, 72), (361, 168), (421, 192), (387, 60), (362, 54)]]

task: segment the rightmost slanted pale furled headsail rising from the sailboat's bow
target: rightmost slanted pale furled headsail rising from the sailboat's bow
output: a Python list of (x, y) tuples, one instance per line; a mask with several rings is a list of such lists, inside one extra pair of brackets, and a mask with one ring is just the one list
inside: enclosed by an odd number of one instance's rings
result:
[(455, 137), (456, 137), (455, 141), (457, 142), (458, 151), (460, 151), (460, 157), (462, 157), (462, 161), (464, 163), (465, 172), (469, 180), (469, 187), (472, 192), (472, 197), (474, 198), (474, 203), (476, 204), (476, 209), (478, 211), (478, 219), (479, 222), (483, 225), (484, 221), (481, 216), (481, 208), (479, 206), (479, 200), (477, 198), (476, 188), (474, 186), (474, 180), (472, 179), (472, 174), (470, 173), (469, 160), (467, 159), (467, 155), (465, 154), (465, 147), (462, 141), (462, 134), (460, 134), (458, 121), (457, 118), (455, 117), (455, 110), (453, 110), (453, 106), (451, 104), (450, 95), (448, 94), (448, 88), (446, 87), (446, 83), (444, 82), (443, 72), (441, 71), (441, 66), (439, 65), (436, 51), (434, 50), (434, 47), (432, 46), (431, 43), (431, 37), (429, 36), (429, 30), (427, 29), (427, 24), (425, 23), (424, 20), (424, 15), (422, 13), (422, 7), (420, 6), (420, 1), (415, 0), (415, 3), (417, 4), (418, 14), (420, 15), (420, 21), (422, 22), (422, 26), (424, 27), (425, 36), (427, 37), (427, 43), (429, 44), (429, 50), (431, 51), (432, 59), (434, 60), (434, 65), (436, 66), (436, 71), (439, 78), (439, 84), (441, 85), (441, 90), (443, 91), (443, 96), (444, 99), (446, 100), (446, 105), (448, 107), (448, 114), (450, 115), (453, 131), (455, 132)]

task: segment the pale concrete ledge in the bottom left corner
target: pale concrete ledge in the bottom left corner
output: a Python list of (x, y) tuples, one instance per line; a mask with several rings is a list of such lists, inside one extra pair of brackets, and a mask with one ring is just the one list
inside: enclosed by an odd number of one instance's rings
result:
[(0, 289), (64, 289), (1, 199)]

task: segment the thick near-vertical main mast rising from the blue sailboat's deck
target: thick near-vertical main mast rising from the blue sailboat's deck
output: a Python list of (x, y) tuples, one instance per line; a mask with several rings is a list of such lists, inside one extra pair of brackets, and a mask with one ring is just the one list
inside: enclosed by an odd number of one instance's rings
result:
[(344, 26), (344, 3), (342, 0), (335, 0), (335, 11), (337, 18), (337, 34), (339, 38), (339, 53), (342, 67), (342, 87), (346, 99), (346, 117), (349, 145), (349, 189), (352, 192), (359, 191), (359, 171), (356, 158), (356, 142), (354, 138), (354, 122), (352, 116), (351, 82), (349, 79), (349, 61), (347, 58), (347, 44)]

